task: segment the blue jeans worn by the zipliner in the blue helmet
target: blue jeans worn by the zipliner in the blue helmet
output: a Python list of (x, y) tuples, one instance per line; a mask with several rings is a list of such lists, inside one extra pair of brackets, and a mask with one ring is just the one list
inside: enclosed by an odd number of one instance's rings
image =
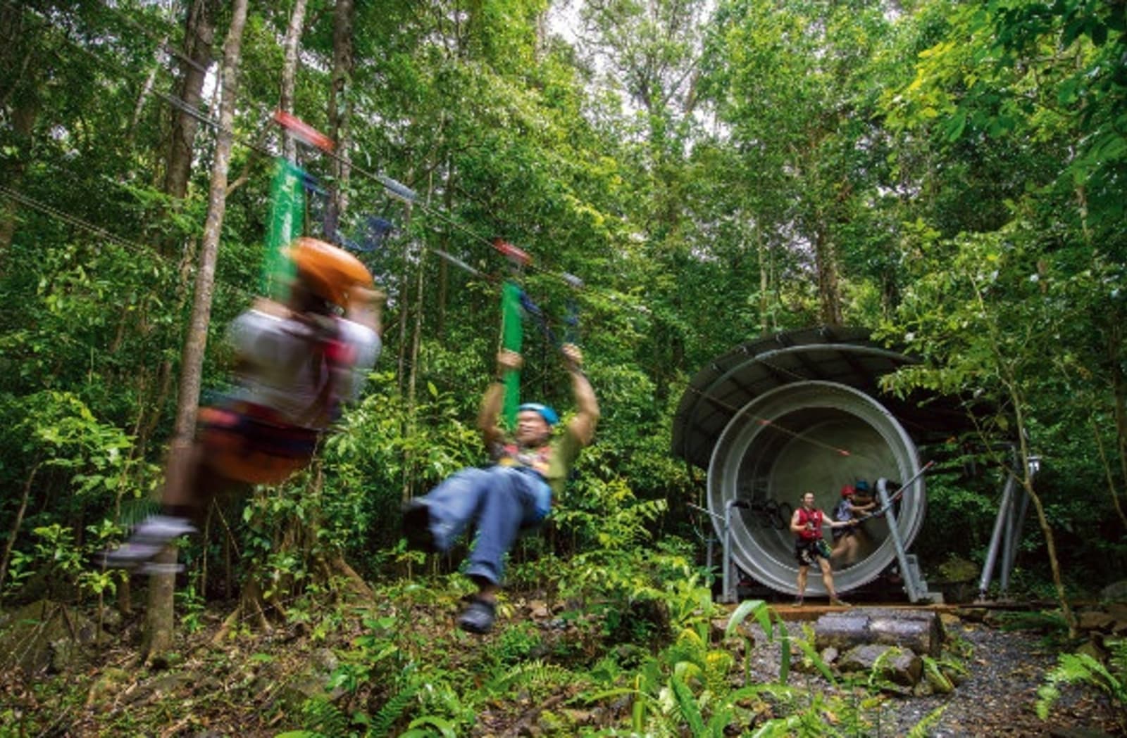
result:
[(462, 469), (421, 498), (435, 546), (446, 551), (469, 524), (478, 528), (467, 574), (500, 584), (505, 554), (521, 528), (551, 510), (551, 488), (531, 469), (492, 466)]

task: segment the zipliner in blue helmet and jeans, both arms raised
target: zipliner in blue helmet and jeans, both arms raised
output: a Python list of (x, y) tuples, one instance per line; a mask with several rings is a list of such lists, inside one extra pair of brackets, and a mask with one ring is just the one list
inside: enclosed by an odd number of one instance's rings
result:
[(403, 512), (408, 543), (425, 551), (446, 551), (470, 523), (477, 526), (465, 573), (478, 585), (478, 594), (458, 618), (463, 630), (485, 633), (492, 628), (505, 555), (522, 528), (548, 515), (552, 496), (564, 492), (571, 465), (594, 438), (598, 403), (580, 370), (583, 354), (571, 344), (564, 345), (562, 352), (576, 403), (576, 414), (564, 431), (553, 438), (559, 415), (539, 403), (520, 406), (511, 436), (502, 431), (497, 420), (505, 386), (499, 378), (520, 369), (523, 359), (514, 351), (500, 351), (498, 380), (489, 385), (478, 413), (478, 429), (492, 465), (458, 471), (426, 496), (412, 500)]

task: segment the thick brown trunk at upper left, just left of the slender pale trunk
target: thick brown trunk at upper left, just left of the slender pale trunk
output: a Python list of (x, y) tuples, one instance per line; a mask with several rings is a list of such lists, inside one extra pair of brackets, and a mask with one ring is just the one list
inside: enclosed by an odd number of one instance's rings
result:
[[(196, 110), (203, 96), (206, 70), (212, 63), (212, 43), (215, 39), (216, 0), (193, 0), (184, 25), (184, 55), (180, 60), (181, 80), (176, 97), (188, 110)], [(190, 60), (190, 61), (188, 61)], [(163, 190), (176, 200), (184, 199), (192, 173), (192, 150), (199, 122), (187, 110), (172, 110), (172, 134), (165, 166)]]

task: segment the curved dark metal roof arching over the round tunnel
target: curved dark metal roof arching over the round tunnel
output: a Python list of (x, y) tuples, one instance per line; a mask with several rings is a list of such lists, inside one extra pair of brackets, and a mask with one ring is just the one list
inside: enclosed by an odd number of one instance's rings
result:
[(860, 327), (823, 326), (748, 341), (710, 361), (690, 380), (673, 421), (673, 453), (708, 469), (728, 422), (764, 392), (797, 381), (835, 381), (877, 398), (916, 440), (966, 430), (957, 398), (880, 392), (881, 376), (916, 363)]

